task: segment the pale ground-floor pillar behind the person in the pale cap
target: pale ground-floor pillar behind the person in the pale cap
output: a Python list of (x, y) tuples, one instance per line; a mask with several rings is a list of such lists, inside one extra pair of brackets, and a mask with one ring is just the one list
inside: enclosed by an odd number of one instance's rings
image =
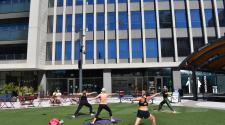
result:
[(112, 76), (110, 70), (103, 71), (103, 87), (107, 92), (112, 92)]

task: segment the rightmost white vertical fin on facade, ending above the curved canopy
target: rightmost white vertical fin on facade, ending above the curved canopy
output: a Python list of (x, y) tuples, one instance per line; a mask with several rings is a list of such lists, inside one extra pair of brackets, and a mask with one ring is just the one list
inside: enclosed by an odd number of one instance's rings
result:
[(216, 0), (213, 0), (213, 9), (214, 9), (214, 15), (215, 15), (215, 22), (216, 22), (216, 35), (217, 38), (221, 38), (220, 34), (220, 22), (219, 22), (219, 17), (218, 17), (218, 9), (217, 9), (217, 2)]

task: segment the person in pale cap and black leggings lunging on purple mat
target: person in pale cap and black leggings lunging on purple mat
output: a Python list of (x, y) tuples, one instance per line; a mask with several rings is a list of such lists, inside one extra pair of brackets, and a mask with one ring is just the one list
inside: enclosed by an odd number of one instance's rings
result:
[(108, 98), (108, 96), (111, 96), (111, 95), (115, 95), (115, 94), (106, 93), (106, 89), (102, 88), (102, 92), (94, 98), (94, 99), (99, 99), (100, 103), (99, 103), (99, 106), (98, 106), (98, 111), (97, 111), (93, 121), (91, 122), (92, 125), (95, 124), (95, 122), (96, 122), (99, 114), (101, 113), (102, 109), (105, 109), (106, 111), (108, 111), (111, 122), (115, 122), (115, 120), (113, 119), (113, 116), (112, 116), (112, 111), (107, 105), (107, 98)]

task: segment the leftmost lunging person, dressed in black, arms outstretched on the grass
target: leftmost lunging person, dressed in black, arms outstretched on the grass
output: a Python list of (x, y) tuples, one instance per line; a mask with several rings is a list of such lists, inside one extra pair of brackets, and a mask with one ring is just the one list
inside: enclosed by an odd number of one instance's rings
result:
[(77, 107), (77, 110), (75, 111), (74, 115), (72, 116), (73, 118), (75, 118), (75, 117), (78, 116), (78, 113), (79, 113), (79, 111), (81, 110), (81, 108), (82, 108), (83, 106), (86, 106), (86, 107), (89, 108), (89, 112), (90, 112), (91, 116), (94, 115), (94, 112), (93, 112), (93, 110), (92, 110), (92, 106), (91, 106), (91, 104), (90, 104), (90, 103), (88, 102), (88, 100), (87, 100), (87, 96), (92, 95), (92, 94), (95, 94), (95, 93), (96, 93), (96, 92), (87, 93), (87, 91), (84, 90), (82, 93), (76, 93), (76, 94), (75, 94), (75, 95), (80, 96), (80, 99), (79, 99), (79, 105), (78, 105), (78, 107)]

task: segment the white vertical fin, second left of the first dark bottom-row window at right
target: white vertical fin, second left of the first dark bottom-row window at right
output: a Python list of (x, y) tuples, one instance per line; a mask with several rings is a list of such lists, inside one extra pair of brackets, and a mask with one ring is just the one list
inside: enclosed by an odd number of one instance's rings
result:
[(145, 38), (145, 10), (144, 10), (144, 1), (141, 0), (141, 23), (142, 23), (142, 27), (141, 27), (141, 31), (142, 31), (142, 48), (143, 48), (143, 62), (146, 62), (146, 38)]

